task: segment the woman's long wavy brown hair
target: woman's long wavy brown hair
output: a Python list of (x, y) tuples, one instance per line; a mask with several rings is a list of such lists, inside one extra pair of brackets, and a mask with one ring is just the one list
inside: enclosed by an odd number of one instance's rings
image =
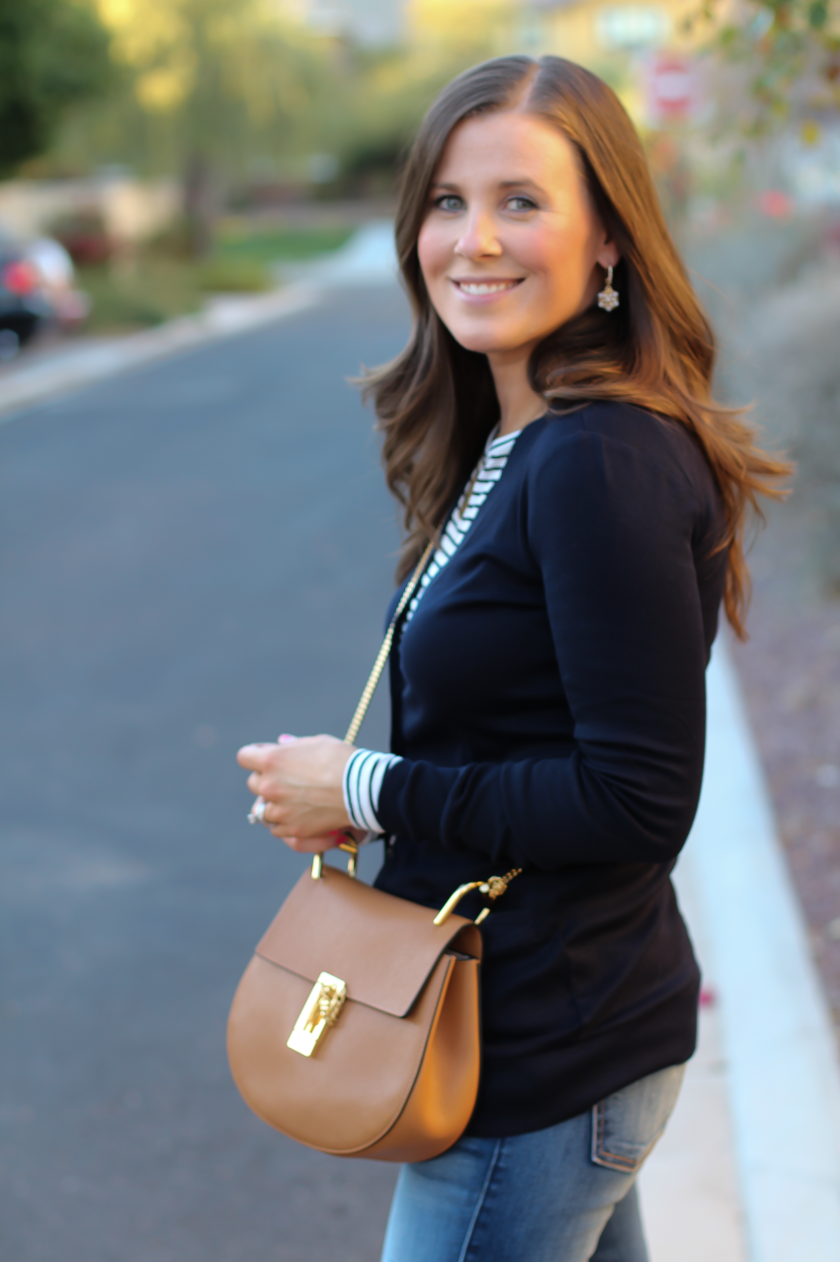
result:
[(612, 88), (560, 57), (499, 57), (459, 74), (426, 114), (406, 162), (396, 244), (414, 329), (402, 353), (363, 380), (383, 434), (386, 481), (404, 510), (397, 577), (440, 529), (498, 420), (487, 357), (462, 347), (429, 300), (417, 236), (453, 129), (502, 110), (544, 119), (571, 141), (621, 254), (618, 310), (593, 305), (550, 333), (531, 355), (531, 386), (557, 413), (617, 399), (689, 428), (720, 490), (726, 526), (719, 550), (729, 551), (724, 608), (745, 639), (747, 512), (762, 519), (759, 496), (781, 497), (791, 466), (755, 444), (743, 409), (713, 400), (714, 333), (671, 240), (636, 129)]

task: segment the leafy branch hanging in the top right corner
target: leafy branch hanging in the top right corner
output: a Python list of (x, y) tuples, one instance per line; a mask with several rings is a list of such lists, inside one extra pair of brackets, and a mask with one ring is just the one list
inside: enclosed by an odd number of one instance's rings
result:
[(711, 48), (745, 78), (738, 124), (762, 135), (793, 117), (806, 140), (819, 119), (840, 111), (837, 0), (704, 0), (689, 30), (711, 24)]

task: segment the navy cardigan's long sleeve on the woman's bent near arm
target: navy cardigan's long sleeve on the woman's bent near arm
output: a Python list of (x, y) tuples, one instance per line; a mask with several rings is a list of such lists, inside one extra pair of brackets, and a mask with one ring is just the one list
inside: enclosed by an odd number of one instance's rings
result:
[[(703, 774), (701, 517), (690, 480), (657, 449), (576, 428), (531, 459), (520, 519), (570, 750), (462, 766), (404, 757), (382, 777), (382, 828), (544, 871), (674, 858)], [(513, 651), (525, 664), (528, 642)]]

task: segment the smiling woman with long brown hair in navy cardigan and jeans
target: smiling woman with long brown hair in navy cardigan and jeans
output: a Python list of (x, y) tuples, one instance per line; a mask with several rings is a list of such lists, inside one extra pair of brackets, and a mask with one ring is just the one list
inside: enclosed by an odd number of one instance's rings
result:
[(721, 599), (743, 635), (744, 512), (786, 467), (711, 401), (711, 331), (589, 72), (507, 57), (455, 80), (397, 245), (414, 332), (368, 390), (400, 577), (439, 546), (391, 656), (392, 751), (289, 737), (240, 762), (293, 849), (383, 834), (391, 893), (439, 907), (522, 870), (482, 930), (475, 1112), (404, 1167), (386, 1262), (643, 1262), (634, 1180), (695, 1046), (670, 873), (704, 671)]

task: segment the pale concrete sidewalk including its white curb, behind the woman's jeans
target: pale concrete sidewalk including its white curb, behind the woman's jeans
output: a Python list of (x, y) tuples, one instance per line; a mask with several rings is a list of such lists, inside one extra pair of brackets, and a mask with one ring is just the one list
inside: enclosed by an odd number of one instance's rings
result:
[(836, 1262), (836, 1045), (721, 642), (708, 695), (704, 789), (676, 886), (714, 1002), (641, 1180), (652, 1262)]

